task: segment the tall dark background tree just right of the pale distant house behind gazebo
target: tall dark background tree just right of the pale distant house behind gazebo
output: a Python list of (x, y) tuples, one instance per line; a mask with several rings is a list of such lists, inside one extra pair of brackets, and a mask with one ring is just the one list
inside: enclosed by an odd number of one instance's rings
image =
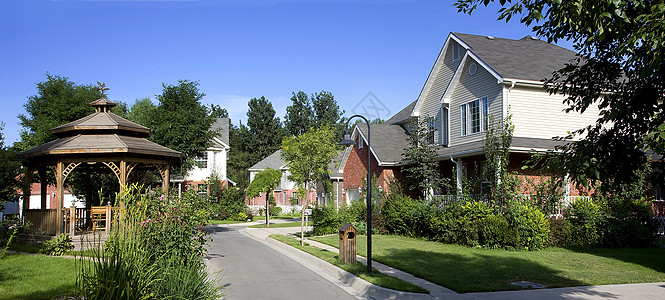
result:
[(248, 134), (246, 150), (250, 153), (250, 166), (279, 149), (285, 135), (282, 122), (275, 116), (272, 103), (265, 97), (252, 98), (247, 111)]

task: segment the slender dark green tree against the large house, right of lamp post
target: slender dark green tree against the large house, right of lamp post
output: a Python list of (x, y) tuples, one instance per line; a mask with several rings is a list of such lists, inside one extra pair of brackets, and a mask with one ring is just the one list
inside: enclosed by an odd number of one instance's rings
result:
[(435, 145), (429, 143), (433, 128), (428, 117), (414, 118), (411, 128), (409, 146), (404, 148), (402, 170), (409, 190), (418, 190), (427, 197), (434, 189), (440, 188), (441, 184), (439, 163), (435, 160)]

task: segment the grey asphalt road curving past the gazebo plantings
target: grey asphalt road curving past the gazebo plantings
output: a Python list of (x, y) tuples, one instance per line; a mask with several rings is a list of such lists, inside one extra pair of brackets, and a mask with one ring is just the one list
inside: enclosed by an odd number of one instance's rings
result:
[(207, 264), (221, 271), (224, 299), (356, 299), (284, 254), (240, 232), (213, 227)]

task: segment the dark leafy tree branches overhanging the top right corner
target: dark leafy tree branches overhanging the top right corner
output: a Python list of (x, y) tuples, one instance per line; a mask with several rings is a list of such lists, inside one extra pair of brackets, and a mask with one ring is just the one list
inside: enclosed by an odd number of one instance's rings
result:
[[(471, 13), (491, 0), (458, 0)], [(598, 105), (594, 125), (560, 150), (555, 164), (578, 183), (619, 193), (640, 180), (646, 151), (665, 154), (665, 4), (662, 0), (500, 0), (499, 19), (518, 17), (549, 42), (571, 41), (576, 61), (545, 82), (568, 111)]]

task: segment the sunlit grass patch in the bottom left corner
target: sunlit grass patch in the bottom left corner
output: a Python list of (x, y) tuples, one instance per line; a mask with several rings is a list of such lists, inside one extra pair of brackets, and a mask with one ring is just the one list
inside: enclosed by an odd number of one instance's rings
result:
[(76, 263), (46, 255), (7, 255), (0, 261), (0, 298), (51, 299), (73, 295)]

